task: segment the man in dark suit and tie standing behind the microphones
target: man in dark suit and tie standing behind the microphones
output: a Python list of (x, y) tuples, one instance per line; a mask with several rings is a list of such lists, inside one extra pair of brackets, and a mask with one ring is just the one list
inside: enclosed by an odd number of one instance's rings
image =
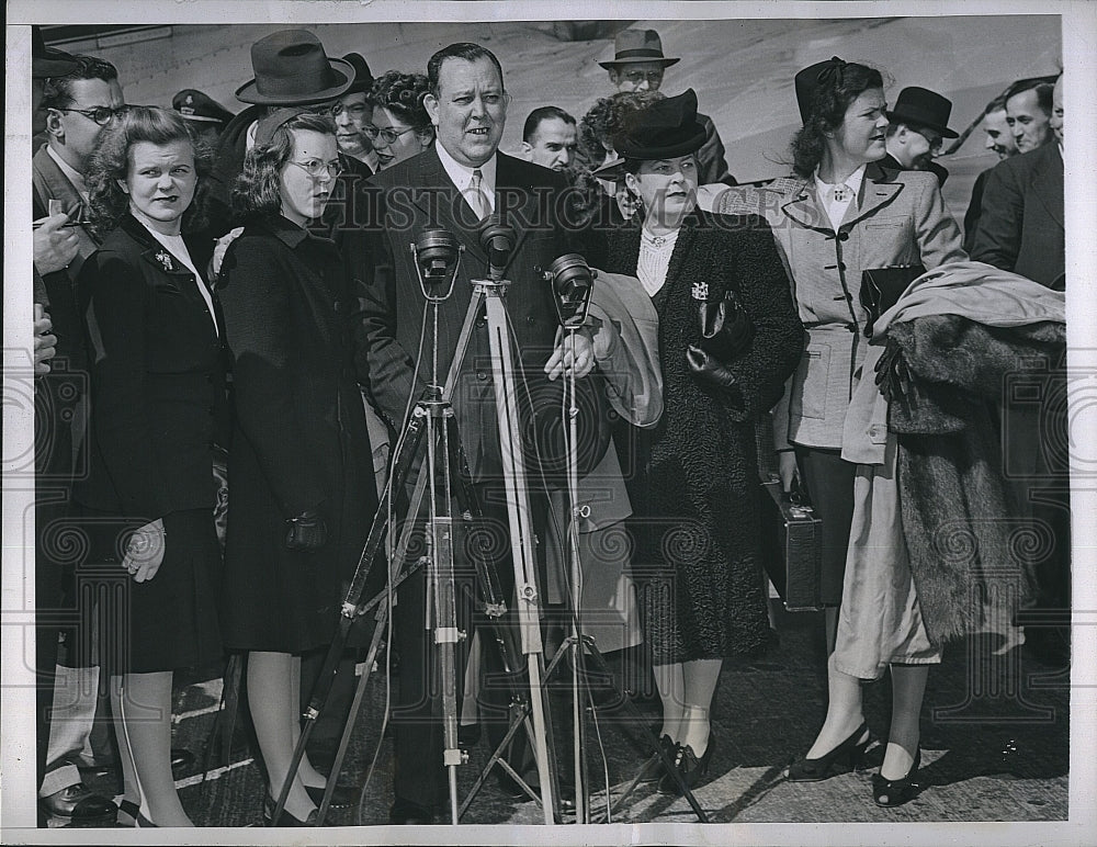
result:
[[(570, 352), (554, 347), (558, 321), (552, 289), (536, 273), (539, 267), (547, 268), (567, 251), (555, 203), (566, 184), (559, 174), (498, 153), (508, 95), (502, 69), (489, 50), (475, 44), (450, 45), (434, 54), (427, 70), (430, 93), (425, 104), (436, 127), (437, 144), (373, 178), (375, 188), (367, 205), (374, 227), (366, 235), (369, 252), (351, 262), (360, 279), (372, 269), (372, 278), (363, 280), (363, 328), (373, 397), (382, 415), (399, 430), (409, 405), (423, 393), (430, 379), (430, 365), (426, 363), (429, 353), (417, 368), (423, 298), (409, 242), (426, 228), (441, 227), (464, 246), (453, 293), (439, 307), (441, 383), (472, 298), (471, 281), (489, 278), (493, 260), (480, 246), (480, 230), (485, 218), (495, 214), (514, 229), (505, 274), (511, 281), (506, 309), (519, 350), (518, 379), (524, 380), (536, 406), (551, 414), (555, 405), (558, 419), (559, 381), (555, 377), (572, 368), (583, 377), (593, 366), (585, 332), (578, 336), (574, 361)], [(427, 343), (429, 349), (429, 339)], [(488, 519), (505, 528), (508, 524), (500, 499), (502, 460), (493, 364), (486, 321), (480, 316), (457, 373), (453, 408), (472, 479)], [(579, 380), (580, 385), (586, 382)], [(531, 473), (531, 483), (533, 476)], [(536, 518), (534, 515), (535, 526)], [(507, 552), (496, 560), (496, 565), (504, 590), (513, 590), (509, 543), (502, 546)], [(395, 611), (400, 693), (394, 713), (393, 823), (429, 822), (445, 797), (440, 710), (428, 689), (433, 656), (425, 639), (425, 581), (421, 569), (405, 581)], [(485, 697), (489, 694), (490, 690)], [(494, 726), (498, 729), (498, 723)], [(491, 731), (493, 724), (488, 729)], [(523, 776), (536, 776), (531, 771), (528, 752), (512, 752), (511, 763), (519, 772), (524, 768)]]

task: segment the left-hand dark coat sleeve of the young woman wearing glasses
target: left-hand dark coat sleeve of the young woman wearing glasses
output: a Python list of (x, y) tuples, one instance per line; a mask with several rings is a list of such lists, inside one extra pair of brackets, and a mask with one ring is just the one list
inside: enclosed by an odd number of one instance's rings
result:
[(220, 304), (233, 359), (237, 422), (286, 518), (317, 508), (323, 483), (295, 410), (291, 291), (294, 280), (271, 242), (240, 237), (225, 257)]

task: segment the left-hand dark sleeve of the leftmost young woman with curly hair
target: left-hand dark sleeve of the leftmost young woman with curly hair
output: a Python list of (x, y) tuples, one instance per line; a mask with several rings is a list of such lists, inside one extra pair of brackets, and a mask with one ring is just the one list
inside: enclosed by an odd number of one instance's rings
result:
[(80, 287), (88, 297), (91, 419), (103, 461), (127, 516), (162, 518), (172, 506), (149, 425), (148, 284), (127, 259), (97, 253), (84, 263)]

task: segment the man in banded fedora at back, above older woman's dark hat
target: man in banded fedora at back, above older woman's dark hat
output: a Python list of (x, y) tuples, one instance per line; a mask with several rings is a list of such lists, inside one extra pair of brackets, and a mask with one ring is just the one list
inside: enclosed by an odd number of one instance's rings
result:
[[(663, 55), (663, 41), (655, 30), (622, 30), (613, 39), (613, 58), (598, 64), (609, 71), (610, 82), (618, 91), (657, 91), (663, 86), (664, 71), (678, 61)], [(701, 184), (736, 184), (727, 170), (724, 143), (715, 124), (708, 115), (697, 117), (705, 133), (704, 144), (697, 151)]]

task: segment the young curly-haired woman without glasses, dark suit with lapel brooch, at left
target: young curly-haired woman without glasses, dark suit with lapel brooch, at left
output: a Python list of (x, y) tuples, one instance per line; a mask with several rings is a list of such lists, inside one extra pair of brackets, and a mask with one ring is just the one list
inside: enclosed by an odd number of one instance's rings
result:
[[(179, 115), (131, 106), (103, 131), (88, 174), (105, 237), (80, 275), (91, 426), (75, 497), (104, 530), (92, 561), (122, 558), (129, 575), (100, 652), (112, 674), (120, 813), (134, 824), (192, 825), (171, 775), (172, 671), (222, 655), (213, 447), (228, 434), (224, 332), (203, 276), (213, 241), (182, 235), (207, 165)], [(101, 616), (109, 609), (99, 603)]]

